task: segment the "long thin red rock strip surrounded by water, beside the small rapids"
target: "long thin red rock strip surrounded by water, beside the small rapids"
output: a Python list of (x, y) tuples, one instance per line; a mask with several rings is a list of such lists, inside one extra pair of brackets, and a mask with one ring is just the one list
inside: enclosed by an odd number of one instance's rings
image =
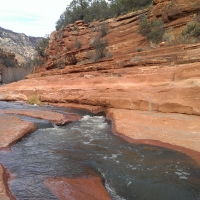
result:
[(63, 115), (61, 113), (45, 110), (6, 110), (6, 114), (19, 114), (39, 119), (45, 119), (56, 125), (64, 125), (81, 119), (81, 116), (74, 113)]

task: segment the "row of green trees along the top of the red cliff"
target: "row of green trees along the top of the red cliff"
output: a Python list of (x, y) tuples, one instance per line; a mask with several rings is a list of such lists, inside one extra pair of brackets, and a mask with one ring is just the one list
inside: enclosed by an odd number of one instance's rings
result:
[(62, 29), (77, 20), (90, 22), (105, 20), (139, 10), (152, 3), (152, 0), (74, 0), (66, 7), (56, 22), (56, 30)]

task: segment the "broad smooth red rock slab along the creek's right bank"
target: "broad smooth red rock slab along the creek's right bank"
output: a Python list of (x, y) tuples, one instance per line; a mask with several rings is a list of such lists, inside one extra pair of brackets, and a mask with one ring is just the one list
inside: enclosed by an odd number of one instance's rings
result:
[(200, 116), (110, 109), (113, 131), (129, 141), (186, 153), (200, 164)]

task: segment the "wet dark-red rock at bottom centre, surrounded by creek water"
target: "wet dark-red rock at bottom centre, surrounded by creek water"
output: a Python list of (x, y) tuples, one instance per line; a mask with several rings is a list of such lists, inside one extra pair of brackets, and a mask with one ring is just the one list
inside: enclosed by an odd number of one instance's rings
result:
[(48, 178), (45, 186), (59, 200), (111, 200), (97, 176), (81, 178)]

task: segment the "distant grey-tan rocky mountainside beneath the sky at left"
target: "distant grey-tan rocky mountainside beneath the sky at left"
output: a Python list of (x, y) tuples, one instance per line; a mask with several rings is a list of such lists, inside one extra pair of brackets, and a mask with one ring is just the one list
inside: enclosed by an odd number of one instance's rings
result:
[(36, 54), (35, 46), (41, 39), (41, 37), (31, 37), (0, 27), (0, 48), (14, 53), (19, 63), (33, 58)]

